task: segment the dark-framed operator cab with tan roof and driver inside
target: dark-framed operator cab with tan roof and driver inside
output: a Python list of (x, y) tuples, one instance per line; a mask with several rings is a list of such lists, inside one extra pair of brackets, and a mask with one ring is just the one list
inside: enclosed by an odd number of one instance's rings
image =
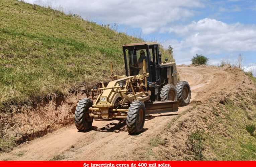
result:
[[(143, 59), (146, 60), (147, 82), (160, 81), (160, 65), (157, 42), (141, 42), (123, 45), (126, 76), (143, 74)], [(129, 61), (129, 64), (128, 62)]]

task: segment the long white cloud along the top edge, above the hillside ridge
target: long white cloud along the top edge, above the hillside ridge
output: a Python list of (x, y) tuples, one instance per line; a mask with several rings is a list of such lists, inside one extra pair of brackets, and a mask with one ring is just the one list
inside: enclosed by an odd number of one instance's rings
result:
[(61, 5), (80, 12), (89, 19), (141, 28), (144, 34), (159, 30), (174, 21), (194, 16), (195, 8), (202, 8), (202, 0), (25, 0), (45, 6)]

